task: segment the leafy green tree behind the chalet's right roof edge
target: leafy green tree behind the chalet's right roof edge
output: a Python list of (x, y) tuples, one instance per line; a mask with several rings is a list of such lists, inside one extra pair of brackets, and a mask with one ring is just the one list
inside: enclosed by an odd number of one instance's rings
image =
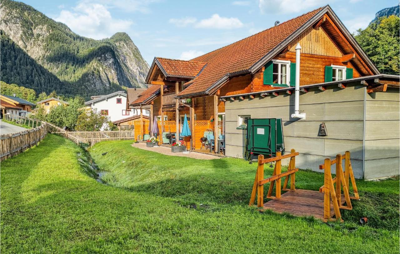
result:
[(399, 74), (399, 17), (379, 18), (354, 36), (381, 73)]

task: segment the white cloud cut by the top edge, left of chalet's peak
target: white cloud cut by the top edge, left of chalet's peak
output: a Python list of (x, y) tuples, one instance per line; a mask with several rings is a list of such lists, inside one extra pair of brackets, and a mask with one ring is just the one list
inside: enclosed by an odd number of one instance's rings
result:
[(288, 14), (323, 6), (326, 0), (259, 0), (261, 13)]

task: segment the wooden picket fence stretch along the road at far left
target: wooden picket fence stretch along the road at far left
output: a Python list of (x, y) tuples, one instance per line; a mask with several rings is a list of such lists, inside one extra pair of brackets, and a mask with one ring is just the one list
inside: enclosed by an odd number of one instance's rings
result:
[(20, 154), (26, 149), (37, 145), (47, 134), (47, 125), (20, 131), (18, 133), (4, 134), (0, 136), (0, 161)]

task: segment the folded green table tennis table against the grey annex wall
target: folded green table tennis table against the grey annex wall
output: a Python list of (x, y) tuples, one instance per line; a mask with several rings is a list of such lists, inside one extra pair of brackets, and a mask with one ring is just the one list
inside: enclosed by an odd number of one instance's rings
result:
[(276, 151), (284, 154), (282, 119), (248, 119), (246, 140), (247, 157), (274, 157)]

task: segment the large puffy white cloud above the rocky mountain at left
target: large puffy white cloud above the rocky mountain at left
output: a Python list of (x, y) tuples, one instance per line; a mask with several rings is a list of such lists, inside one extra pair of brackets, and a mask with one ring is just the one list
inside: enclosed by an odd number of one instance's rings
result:
[(112, 18), (102, 4), (81, 2), (72, 10), (62, 10), (54, 20), (66, 24), (81, 36), (93, 39), (103, 39), (116, 32), (124, 32), (133, 24), (131, 20)]

